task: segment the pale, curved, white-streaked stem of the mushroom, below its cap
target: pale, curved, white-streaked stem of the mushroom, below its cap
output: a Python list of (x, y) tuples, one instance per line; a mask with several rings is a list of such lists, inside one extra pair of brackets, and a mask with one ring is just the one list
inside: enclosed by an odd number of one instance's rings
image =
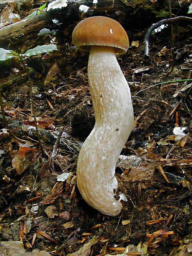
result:
[[(132, 131), (133, 109), (114, 47), (91, 46), (88, 79), (96, 122), (79, 153), (77, 186), (89, 205), (116, 216), (122, 204), (114, 197), (115, 167)], [(120, 199), (126, 200), (124, 194)]]

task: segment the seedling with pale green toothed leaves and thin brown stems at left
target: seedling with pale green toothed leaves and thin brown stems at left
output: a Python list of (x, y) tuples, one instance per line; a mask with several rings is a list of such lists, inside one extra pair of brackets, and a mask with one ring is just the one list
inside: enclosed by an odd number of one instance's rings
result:
[[(29, 87), (30, 87), (30, 98), (31, 98), (31, 105), (32, 105), (32, 110), (33, 110), (33, 116), (34, 116), (34, 122), (35, 122), (35, 127), (36, 127), (36, 134), (37, 134), (37, 139), (39, 142), (39, 147), (40, 150), (42, 152), (42, 154), (45, 156), (45, 152), (40, 140), (40, 136), (39, 136), (39, 132), (38, 132), (38, 127), (37, 127), (37, 121), (36, 121), (36, 115), (35, 115), (35, 108), (34, 108), (34, 101), (33, 101), (33, 94), (32, 94), (32, 80), (29, 74), (28, 69), (25, 66), (25, 63), (23, 61), (24, 57), (30, 57), (32, 55), (37, 55), (38, 53), (48, 53), (48, 52), (52, 52), (54, 50), (57, 50), (57, 46), (54, 44), (48, 44), (48, 45), (42, 45), (42, 46), (37, 46), (33, 49), (27, 50), (24, 54), (19, 54), (16, 53), (12, 50), (5, 50), (3, 48), (0, 48), (0, 61), (5, 61), (8, 60), (10, 58), (17, 58), (22, 64), (23, 64), (23, 68), (28, 76), (28, 80), (29, 80)], [(8, 84), (7, 84), (8, 86)], [(4, 124), (6, 126), (6, 129), (9, 131), (10, 135), (12, 136), (12, 138), (14, 138), (15, 140), (21, 142), (21, 143), (25, 143), (26, 140), (21, 140), (19, 138), (17, 138), (12, 131), (9, 129), (9, 126), (7, 124), (6, 118), (5, 118), (5, 113), (4, 113), (4, 108), (3, 108), (3, 101), (2, 101), (2, 91), (3, 89), (6, 88), (6, 83), (0, 84), (0, 106), (1, 106), (1, 111), (2, 111), (2, 116), (4, 119)]]

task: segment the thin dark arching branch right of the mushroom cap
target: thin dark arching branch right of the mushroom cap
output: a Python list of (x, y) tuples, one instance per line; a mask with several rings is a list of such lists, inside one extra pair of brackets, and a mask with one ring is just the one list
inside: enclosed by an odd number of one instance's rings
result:
[(151, 33), (153, 32), (154, 29), (160, 27), (163, 24), (169, 24), (169, 23), (173, 23), (176, 22), (178, 20), (187, 20), (187, 21), (192, 21), (192, 18), (189, 17), (185, 17), (185, 16), (178, 16), (172, 19), (165, 19), (165, 20), (160, 20), (159, 22), (153, 24), (153, 26), (151, 26), (144, 38), (144, 44), (145, 44), (145, 55), (149, 56), (149, 52), (150, 52), (150, 47), (149, 47), (149, 39), (151, 36)]

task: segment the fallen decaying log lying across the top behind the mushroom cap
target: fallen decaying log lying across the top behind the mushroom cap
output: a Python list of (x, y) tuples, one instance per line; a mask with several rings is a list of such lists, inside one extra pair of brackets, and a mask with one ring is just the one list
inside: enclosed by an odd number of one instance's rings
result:
[[(80, 11), (79, 7), (81, 5), (89, 7), (89, 10), (87, 12)], [(188, 8), (188, 5), (187, 0), (182, 1), (183, 9), (184, 7)], [(24, 53), (26, 50), (50, 40), (48, 37), (37, 36), (43, 28), (48, 28), (51, 31), (57, 30), (56, 38), (59, 44), (68, 43), (66, 36), (72, 34), (77, 22), (90, 16), (108, 16), (120, 22), (125, 30), (132, 29), (132, 24), (138, 23), (139, 30), (142, 30), (142, 26), (146, 22), (146, 15), (150, 16), (150, 13), (153, 13), (154, 16), (154, 12), (163, 9), (169, 17), (167, 6), (168, 0), (155, 1), (153, 4), (150, 0), (100, 0), (97, 4), (88, 0), (69, 0), (66, 7), (50, 9), (33, 18), (21, 20), (1, 28), (0, 47)], [(180, 5), (174, 3), (174, 8), (179, 10)], [(142, 22), (142, 20), (145, 22)], [(159, 20), (162, 20), (161, 16), (156, 15), (144, 27), (151, 26), (152, 23)]]

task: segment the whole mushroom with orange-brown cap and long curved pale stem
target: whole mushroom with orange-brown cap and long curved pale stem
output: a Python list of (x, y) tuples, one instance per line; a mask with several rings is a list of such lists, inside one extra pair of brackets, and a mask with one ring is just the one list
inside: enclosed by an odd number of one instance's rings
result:
[(127, 198), (115, 195), (115, 167), (134, 119), (131, 92), (116, 53), (128, 50), (129, 39), (117, 21), (96, 16), (78, 23), (72, 40), (78, 49), (90, 52), (88, 80), (95, 112), (95, 126), (78, 156), (77, 187), (93, 208), (116, 216), (120, 200)]

